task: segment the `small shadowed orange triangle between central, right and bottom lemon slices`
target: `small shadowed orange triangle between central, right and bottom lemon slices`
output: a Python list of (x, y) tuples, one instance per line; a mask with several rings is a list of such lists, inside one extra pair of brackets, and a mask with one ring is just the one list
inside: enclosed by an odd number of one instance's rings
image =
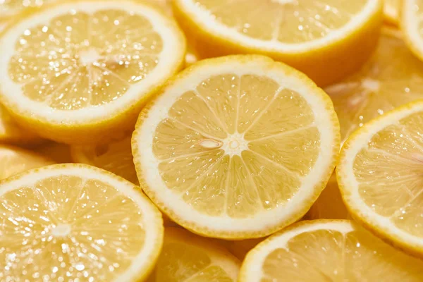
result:
[(328, 184), (307, 212), (307, 219), (350, 219), (348, 209), (341, 197), (335, 173), (332, 174)]

